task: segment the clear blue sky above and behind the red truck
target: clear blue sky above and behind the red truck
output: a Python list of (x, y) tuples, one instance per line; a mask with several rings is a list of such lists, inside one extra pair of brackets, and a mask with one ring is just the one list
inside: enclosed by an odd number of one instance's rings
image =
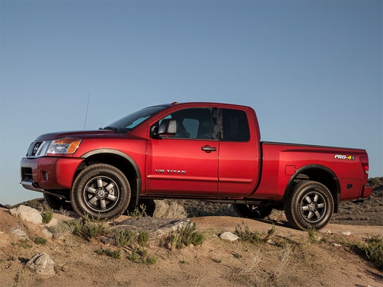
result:
[(382, 1), (1, 1), (0, 203), (40, 134), (153, 104), (257, 111), (263, 141), (364, 148), (383, 176)]

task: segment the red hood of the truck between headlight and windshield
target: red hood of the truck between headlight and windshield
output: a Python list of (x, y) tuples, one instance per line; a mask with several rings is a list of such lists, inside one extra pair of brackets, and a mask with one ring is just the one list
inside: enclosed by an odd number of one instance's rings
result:
[(121, 134), (116, 134), (112, 130), (79, 130), (69, 132), (50, 132), (49, 134), (42, 134), (36, 139), (36, 141), (52, 141), (54, 139), (62, 139), (64, 137), (75, 137), (78, 139), (94, 139), (103, 138), (105, 136), (111, 137), (113, 135), (121, 137)]

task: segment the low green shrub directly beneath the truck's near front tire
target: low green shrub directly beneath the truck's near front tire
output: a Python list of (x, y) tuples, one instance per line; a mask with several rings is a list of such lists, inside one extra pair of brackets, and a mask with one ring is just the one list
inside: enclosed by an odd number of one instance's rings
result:
[(75, 221), (73, 234), (84, 238), (100, 238), (103, 235), (108, 235), (110, 228), (104, 225), (104, 222), (93, 222), (89, 217), (85, 217), (82, 220)]

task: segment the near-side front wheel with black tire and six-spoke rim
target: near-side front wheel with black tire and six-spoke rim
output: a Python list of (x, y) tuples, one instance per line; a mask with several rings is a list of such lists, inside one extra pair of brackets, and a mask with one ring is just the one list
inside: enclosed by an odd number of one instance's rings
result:
[(93, 164), (82, 170), (70, 190), (78, 214), (112, 220), (128, 208), (130, 185), (126, 176), (109, 164)]

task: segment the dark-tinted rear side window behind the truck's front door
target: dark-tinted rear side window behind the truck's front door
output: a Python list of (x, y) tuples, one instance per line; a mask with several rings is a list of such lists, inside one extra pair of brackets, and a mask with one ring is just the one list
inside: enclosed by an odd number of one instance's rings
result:
[(245, 111), (239, 109), (222, 109), (223, 141), (249, 141), (250, 130)]

